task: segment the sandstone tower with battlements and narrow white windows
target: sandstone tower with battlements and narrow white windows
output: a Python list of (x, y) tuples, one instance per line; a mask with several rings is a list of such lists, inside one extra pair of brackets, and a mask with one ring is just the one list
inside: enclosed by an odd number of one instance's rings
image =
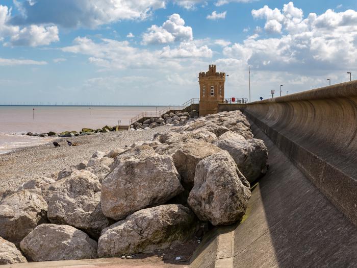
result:
[(225, 73), (216, 72), (216, 65), (210, 65), (207, 72), (200, 72), (199, 82), (199, 115), (218, 112), (218, 103), (224, 99)]

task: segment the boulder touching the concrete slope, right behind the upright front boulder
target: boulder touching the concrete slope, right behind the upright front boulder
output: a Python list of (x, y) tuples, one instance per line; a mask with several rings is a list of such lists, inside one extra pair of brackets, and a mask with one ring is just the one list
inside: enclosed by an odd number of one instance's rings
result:
[(230, 153), (240, 172), (249, 182), (257, 180), (266, 173), (268, 149), (263, 140), (253, 138), (245, 140), (242, 136), (238, 134), (234, 136), (231, 133), (222, 136), (213, 144)]

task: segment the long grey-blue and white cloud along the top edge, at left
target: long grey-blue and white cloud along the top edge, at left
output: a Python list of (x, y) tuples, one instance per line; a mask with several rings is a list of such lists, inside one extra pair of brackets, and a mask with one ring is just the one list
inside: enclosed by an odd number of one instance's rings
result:
[(23, 14), (15, 16), (13, 22), (95, 28), (124, 19), (146, 19), (165, 4), (166, 0), (76, 0), (65, 4), (63, 0), (24, 1), (19, 3)]

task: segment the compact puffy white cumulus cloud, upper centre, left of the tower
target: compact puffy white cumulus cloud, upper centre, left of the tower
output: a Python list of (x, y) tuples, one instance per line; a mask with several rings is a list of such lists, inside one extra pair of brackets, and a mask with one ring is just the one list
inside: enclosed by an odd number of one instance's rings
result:
[(143, 44), (166, 44), (193, 39), (192, 28), (185, 26), (185, 20), (179, 14), (172, 14), (162, 26), (152, 25), (143, 34)]

